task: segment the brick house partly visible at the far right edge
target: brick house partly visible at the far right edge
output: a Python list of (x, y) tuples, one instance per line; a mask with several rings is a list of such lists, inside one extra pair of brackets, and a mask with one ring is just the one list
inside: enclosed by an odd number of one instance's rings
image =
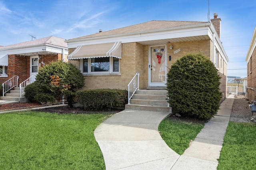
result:
[(256, 100), (256, 27), (245, 61), (247, 62), (247, 99), (251, 102)]

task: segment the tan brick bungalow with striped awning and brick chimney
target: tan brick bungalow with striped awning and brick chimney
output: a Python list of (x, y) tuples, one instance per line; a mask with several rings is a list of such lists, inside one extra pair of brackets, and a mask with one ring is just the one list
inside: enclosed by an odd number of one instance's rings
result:
[(140, 73), (140, 89), (166, 87), (172, 64), (188, 53), (202, 53), (211, 60), (226, 98), (228, 57), (220, 41), (220, 18), (211, 22), (149, 21), (110, 31), (69, 39), (68, 61), (84, 74), (84, 89), (127, 89)]

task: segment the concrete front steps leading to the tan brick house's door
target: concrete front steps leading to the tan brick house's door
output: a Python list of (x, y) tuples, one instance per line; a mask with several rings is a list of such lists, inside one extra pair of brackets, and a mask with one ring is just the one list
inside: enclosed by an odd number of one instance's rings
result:
[(172, 112), (168, 107), (167, 90), (137, 90), (125, 109)]

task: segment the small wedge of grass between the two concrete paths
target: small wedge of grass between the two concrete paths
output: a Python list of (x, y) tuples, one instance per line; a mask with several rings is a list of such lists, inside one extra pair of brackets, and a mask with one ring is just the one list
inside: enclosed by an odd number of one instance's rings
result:
[(158, 130), (166, 144), (176, 153), (182, 155), (189, 147), (190, 140), (194, 140), (203, 127), (203, 122), (188, 123), (167, 118), (160, 123)]

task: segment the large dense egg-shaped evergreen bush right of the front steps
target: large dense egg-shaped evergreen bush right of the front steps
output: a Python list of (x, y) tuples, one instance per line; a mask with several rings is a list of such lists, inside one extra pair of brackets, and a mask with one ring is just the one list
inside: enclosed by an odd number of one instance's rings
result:
[(169, 104), (173, 113), (210, 119), (217, 113), (221, 92), (214, 64), (202, 54), (177, 60), (167, 74)]

